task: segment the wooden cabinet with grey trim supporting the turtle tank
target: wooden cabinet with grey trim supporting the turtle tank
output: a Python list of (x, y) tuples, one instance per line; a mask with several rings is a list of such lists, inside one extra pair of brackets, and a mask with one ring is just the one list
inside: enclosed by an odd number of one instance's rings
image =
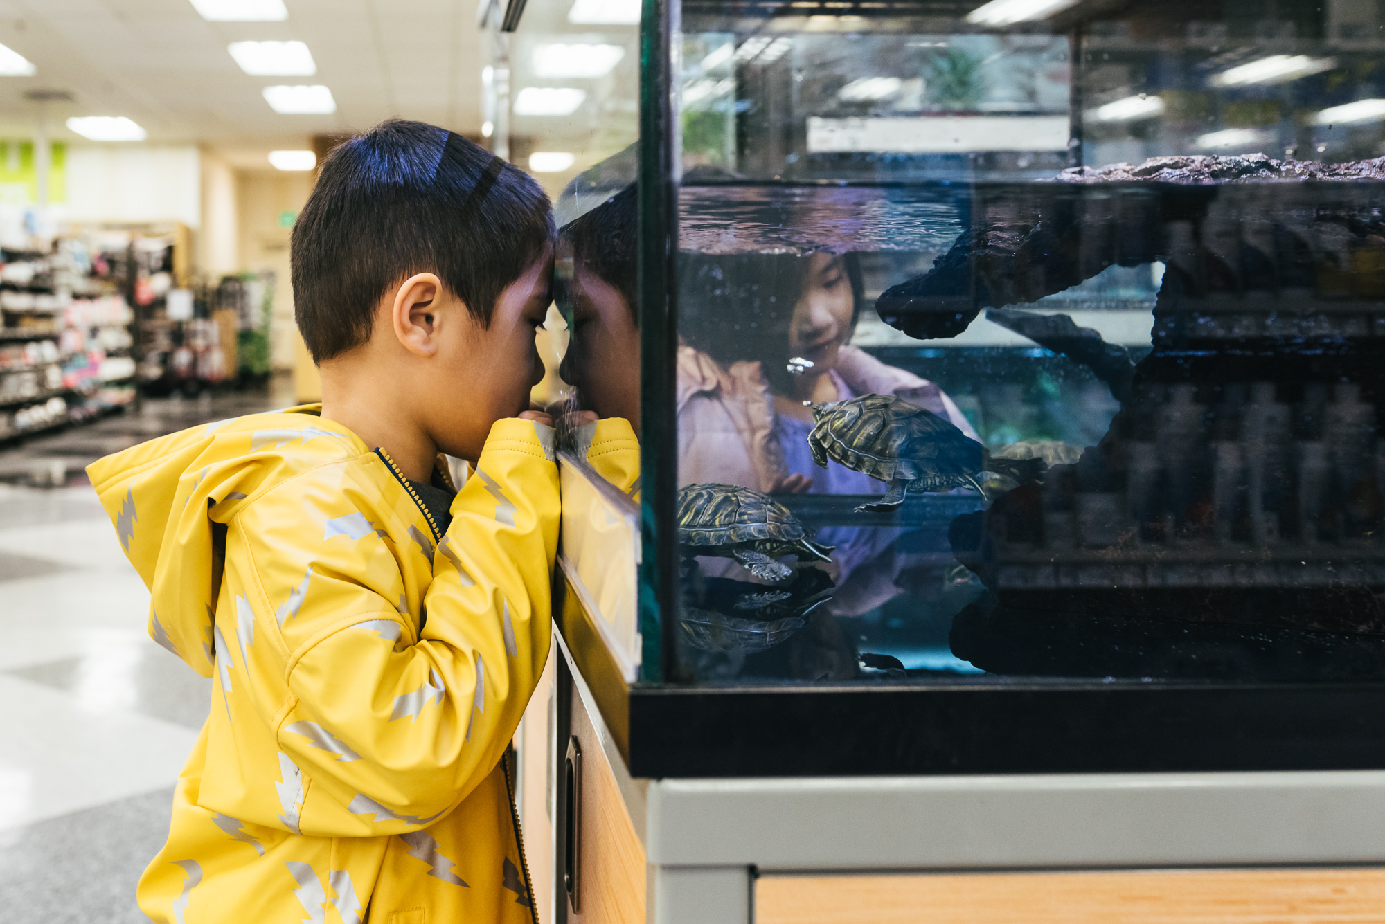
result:
[(633, 780), (554, 653), (519, 736), (542, 924), (1385, 924), (1381, 772)]

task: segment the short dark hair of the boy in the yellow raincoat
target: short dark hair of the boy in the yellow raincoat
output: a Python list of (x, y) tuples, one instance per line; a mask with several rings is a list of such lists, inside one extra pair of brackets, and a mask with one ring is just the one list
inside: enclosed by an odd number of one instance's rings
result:
[(446, 129), (382, 122), (327, 156), (294, 224), (298, 329), (314, 362), (360, 346), (379, 297), (416, 272), (436, 272), (489, 325), (551, 241), (533, 177)]

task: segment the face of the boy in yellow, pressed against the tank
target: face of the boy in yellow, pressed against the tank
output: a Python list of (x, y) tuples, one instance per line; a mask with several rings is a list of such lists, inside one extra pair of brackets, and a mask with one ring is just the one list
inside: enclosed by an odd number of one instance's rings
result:
[(438, 448), (475, 461), (490, 425), (529, 408), (529, 390), (543, 378), (535, 332), (553, 302), (553, 253), (544, 253), (496, 299), (490, 325), (482, 326), (456, 296), (440, 302), (453, 324), (438, 329), (435, 380), (427, 426)]

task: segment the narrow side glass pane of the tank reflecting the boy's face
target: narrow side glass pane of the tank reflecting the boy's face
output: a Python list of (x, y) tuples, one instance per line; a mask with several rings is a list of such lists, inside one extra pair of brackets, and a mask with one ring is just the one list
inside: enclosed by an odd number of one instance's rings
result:
[(605, 458), (589, 456), (594, 425), (576, 426), (578, 416), (566, 412), (597, 411), (633, 426), (640, 421), (640, 3), (529, 0), (490, 4), (486, 17), (492, 64), (482, 83), (493, 147), (543, 184), (560, 228), (554, 288), (566, 331), (547, 325), (540, 344), (562, 355), (540, 398), (555, 412), (564, 447), (558, 559), (568, 599), (578, 599), (622, 676), (633, 682), (643, 654), (636, 614), (638, 458), (629, 438), (616, 440), (619, 451)]

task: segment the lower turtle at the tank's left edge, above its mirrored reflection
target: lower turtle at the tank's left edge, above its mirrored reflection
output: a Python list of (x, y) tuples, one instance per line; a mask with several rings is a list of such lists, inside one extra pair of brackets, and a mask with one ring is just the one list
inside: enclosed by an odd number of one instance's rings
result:
[(679, 490), (677, 521), (684, 556), (733, 557), (766, 581), (794, 574), (776, 562), (783, 555), (832, 560), (832, 546), (813, 542), (813, 531), (787, 506), (738, 484), (688, 484)]

